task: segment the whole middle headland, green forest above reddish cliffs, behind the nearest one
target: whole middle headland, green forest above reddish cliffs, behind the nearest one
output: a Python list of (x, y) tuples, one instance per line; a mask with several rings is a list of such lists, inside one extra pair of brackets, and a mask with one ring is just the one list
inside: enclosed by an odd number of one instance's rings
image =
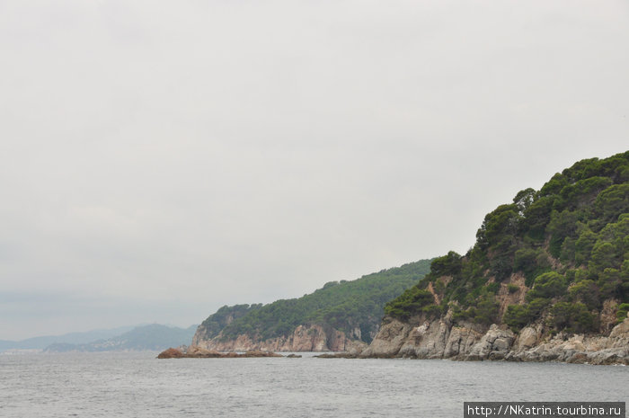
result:
[(221, 307), (197, 329), (192, 345), (218, 351), (344, 351), (367, 345), (387, 300), (416, 284), (430, 260), (326, 283), (302, 298)]

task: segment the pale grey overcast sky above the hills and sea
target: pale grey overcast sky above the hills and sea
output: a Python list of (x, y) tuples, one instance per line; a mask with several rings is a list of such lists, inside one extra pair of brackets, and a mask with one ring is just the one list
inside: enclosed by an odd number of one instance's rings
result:
[(0, 0), (0, 340), (465, 253), (629, 144), (629, 3)]

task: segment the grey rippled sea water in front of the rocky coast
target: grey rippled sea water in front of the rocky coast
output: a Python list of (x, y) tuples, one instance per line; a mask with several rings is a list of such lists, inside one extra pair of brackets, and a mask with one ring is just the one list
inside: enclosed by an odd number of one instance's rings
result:
[(624, 401), (629, 368), (450, 360), (0, 355), (0, 416), (462, 417), (464, 401)]

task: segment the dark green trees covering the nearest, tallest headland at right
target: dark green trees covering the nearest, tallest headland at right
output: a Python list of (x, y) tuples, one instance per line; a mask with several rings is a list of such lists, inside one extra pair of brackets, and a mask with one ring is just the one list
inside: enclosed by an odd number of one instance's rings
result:
[[(435, 259), (385, 313), (407, 319), (452, 309), (456, 321), (518, 330), (544, 320), (554, 331), (594, 332), (606, 300), (619, 321), (626, 317), (628, 253), (629, 151), (580, 161), (539, 191), (519, 191), (485, 216), (474, 247)], [(500, 317), (499, 301), (516, 296), (522, 278), (526, 298)]]

